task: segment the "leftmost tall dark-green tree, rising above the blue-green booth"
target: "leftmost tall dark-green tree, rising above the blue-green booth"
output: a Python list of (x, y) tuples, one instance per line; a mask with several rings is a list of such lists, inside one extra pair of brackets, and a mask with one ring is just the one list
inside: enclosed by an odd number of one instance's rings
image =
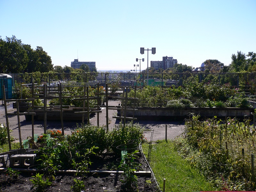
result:
[(28, 55), (23, 49), (21, 40), (15, 36), (3, 40), (0, 36), (0, 72), (22, 73), (27, 65)]

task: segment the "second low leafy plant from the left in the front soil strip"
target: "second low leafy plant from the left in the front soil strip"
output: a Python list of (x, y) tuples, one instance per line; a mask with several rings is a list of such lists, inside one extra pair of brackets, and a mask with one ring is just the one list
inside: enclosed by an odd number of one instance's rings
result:
[(30, 188), (30, 190), (35, 191), (45, 191), (47, 186), (50, 186), (52, 184), (51, 181), (49, 181), (48, 178), (45, 180), (43, 179), (44, 174), (36, 173), (36, 176), (32, 176), (34, 179), (31, 179), (33, 186)]

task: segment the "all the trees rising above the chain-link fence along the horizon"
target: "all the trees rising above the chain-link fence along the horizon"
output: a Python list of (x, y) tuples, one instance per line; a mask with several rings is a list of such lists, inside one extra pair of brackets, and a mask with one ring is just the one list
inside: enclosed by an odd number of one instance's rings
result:
[[(243, 52), (237, 51), (237, 54), (232, 54), (231, 63), (225, 66), (222, 62), (216, 59), (208, 59), (204, 61), (206, 73), (235, 73), (235, 72), (255, 72), (256, 71), (256, 53), (248, 52), (246, 55)], [(189, 73), (193, 69), (192, 66), (176, 63), (173, 68), (155, 69), (149, 68), (149, 73)], [(85, 73), (97, 72), (97, 69), (89, 70), (86, 64), (83, 64), (79, 69), (72, 67), (54, 66), (51, 57), (37, 46), (32, 49), (31, 45), (23, 44), (20, 39), (15, 36), (2, 39), (0, 36), (0, 73), (33, 73), (33, 72), (55, 72), (55, 73)], [(147, 73), (147, 70), (142, 70), (142, 73)]]

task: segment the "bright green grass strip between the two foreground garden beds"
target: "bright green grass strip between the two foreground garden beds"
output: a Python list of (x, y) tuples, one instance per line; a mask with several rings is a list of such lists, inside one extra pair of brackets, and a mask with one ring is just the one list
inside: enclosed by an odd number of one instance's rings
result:
[[(148, 153), (148, 143), (142, 145), (143, 152)], [(208, 183), (199, 171), (192, 168), (190, 164), (182, 159), (173, 141), (158, 141), (152, 145), (151, 167), (156, 180), (163, 190), (163, 179), (165, 178), (165, 191), (214, 191), (215, 188)]]

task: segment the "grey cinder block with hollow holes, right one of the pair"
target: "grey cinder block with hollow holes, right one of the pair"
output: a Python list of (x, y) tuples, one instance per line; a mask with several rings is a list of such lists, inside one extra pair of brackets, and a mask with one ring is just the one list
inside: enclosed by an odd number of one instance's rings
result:
[(35, 164), (36, 154), (11, 155), (9, 158), (11, 168), (28, 168)]

